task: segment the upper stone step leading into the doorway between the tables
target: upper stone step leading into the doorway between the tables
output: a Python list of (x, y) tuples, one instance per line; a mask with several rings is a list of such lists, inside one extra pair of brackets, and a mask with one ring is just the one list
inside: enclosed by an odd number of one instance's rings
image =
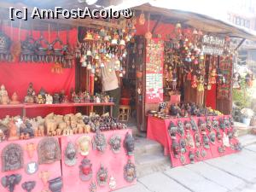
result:
[(135, 156), (140, 157), (143, 154), (163, 154), (163, 147), (160, 143), (143, 137), (135, 137)]

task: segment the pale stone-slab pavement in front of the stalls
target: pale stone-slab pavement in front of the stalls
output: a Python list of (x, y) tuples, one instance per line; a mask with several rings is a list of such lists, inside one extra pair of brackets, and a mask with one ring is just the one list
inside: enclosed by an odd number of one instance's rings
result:
[(137, 184), (116, 192), (255, 192), (256, 144), (238, 154), (193, 165), (168, 168), (138, 179)]

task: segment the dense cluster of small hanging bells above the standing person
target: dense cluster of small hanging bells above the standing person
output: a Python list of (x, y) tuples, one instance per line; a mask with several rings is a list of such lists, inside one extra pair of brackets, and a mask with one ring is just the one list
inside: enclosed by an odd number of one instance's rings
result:
[[(125, 23), (128, 22), (128, 23)], [(136, 32), (135, 21), (122, 21), (122, 29), (102, 28), (92, 30), (87, 28), (84, 42), (81, 44), (80, 63), (82, 67), (95, 74), (100, 72), (100, 68), (105, 67), (107, 62), (109, 72), (119, 71), (119, 77), (125, 74), (125, 62), (127, 51), (125, 45), (131, 41)], [(130, 22), (130, 23), (129, 23)]]

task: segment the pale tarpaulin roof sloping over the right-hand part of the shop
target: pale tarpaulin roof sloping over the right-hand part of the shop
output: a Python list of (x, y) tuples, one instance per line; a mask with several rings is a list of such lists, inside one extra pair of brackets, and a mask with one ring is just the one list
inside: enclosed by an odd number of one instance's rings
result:
[[(193, 11), (196, 9), (189, 9), (183, 6), (180, 7), (180, 3), (161, 3), (164, 1), (150, 1), (150, 0), (129, 0), (123, 1), (118, 5), (109, 6), (106, 9), (137, 9), (146, 12), (154, 13), (157, 15), (163, 15), (172, 19), (181, 21), (183, 24), (201, 29), (205, 32), (212, 32), (217, 34), (229, 35), (234, 38), (246, 38), (249, 40), (256, 40), (256, 32), (249, 30), (242, 26), (235, 26), (234, 24), (220, 19), (215, 19), (212, 16), (198, 14)], [(211, 6), (210, 4), (208, 6)], [(216, 10), (216, 15), (218, 11)]]

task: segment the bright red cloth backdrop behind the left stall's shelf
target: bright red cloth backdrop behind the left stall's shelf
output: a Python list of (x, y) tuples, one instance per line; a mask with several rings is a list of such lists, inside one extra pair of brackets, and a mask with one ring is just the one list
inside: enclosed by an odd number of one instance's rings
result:
[[(3, 31), (9, 35), (12, 41), (19, 40), (19, 29), (11, 29), (8, 26), (3, 26)], [(20, 30), (20, 41), (26, 38), (28, 31)], [(56, 38), (56, 32), (44, 32), (44, 38), (49, 42), (54, 41)], [(40, 36), (40, 32), (33, 31), (33, 38), (37, 39)], [(60, 32), (60, 38), (63, 44), (67, 42), (67, 32)], [(75, 44), (77, 38), (77, 30), (73, 29), (69, 32), (69, 43)], [(0, 84), (4, 84), (6, 90), (9, 92), (9, 97), (16, 91), (20, 102), (24, 101), (26, 96), (26, 90), (28, 84), (32, 82), (36, 93), (44, 88), (50, 94), (65, 90), (69, 95), (71, 88), (75, 86), (75, 67), (63, 69), (63, 73), (51, 73), (51, 67), (53, 63), (26, 63), (26, 62), (0, 62)], [(20, 114), (21, 109), (0, 109), (0, 117), (9, 115)], [(37, 115), (46, 115), (47, 113), (73, 113), (73, 108), (38, 108), (28, 109), (27, 116), (35, 117)]]

